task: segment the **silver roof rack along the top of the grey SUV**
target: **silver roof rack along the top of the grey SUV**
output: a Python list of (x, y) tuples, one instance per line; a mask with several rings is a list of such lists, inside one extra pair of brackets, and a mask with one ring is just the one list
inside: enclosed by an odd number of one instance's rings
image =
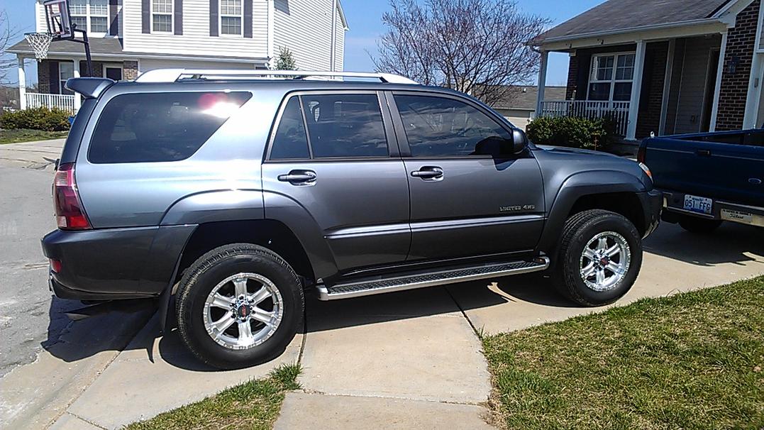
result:
[(391, 73), (325, 72), (305, 70), (202, 70), (202, 69), (157, 69), (138, 76), (135, 82), (180, 82), (183, 79), (231, 80), (231, 79), (306, 79), (327, 78), (367, 78), (379, 79), (385, 83), (415, 84), (419, 82)]

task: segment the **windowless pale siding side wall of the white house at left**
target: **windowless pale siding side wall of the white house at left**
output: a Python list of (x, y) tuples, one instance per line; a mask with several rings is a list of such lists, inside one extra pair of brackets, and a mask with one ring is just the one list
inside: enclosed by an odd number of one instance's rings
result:
[(298, 69), (331, 70), (333, 5), (332, 0), (274, 0), (274, 53), (289, 48)]

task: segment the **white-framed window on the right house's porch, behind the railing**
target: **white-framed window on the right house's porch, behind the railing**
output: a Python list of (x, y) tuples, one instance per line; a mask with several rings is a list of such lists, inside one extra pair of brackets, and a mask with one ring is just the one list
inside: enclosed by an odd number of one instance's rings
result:
[(592, 57), (588, 99), (628, 102), (634, 81), (634, 59), (634, 53)]

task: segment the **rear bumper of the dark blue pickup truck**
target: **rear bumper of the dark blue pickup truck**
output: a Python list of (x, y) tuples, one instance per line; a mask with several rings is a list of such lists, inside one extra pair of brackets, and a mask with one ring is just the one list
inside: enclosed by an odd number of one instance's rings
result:
[(714, 200), (711, 207), (711, 214), (701, 214), (684, 209), (684, 192), (663, 190), (662, 197), (662, 218), (666, 222), (677, 222), (680, 215), (688, 215), (696, 218), (732, 221), (740, 224), (764, 227), (764, 208), (759, 206), (740, 205), (738, 203), (724, 202), (723, 200)]

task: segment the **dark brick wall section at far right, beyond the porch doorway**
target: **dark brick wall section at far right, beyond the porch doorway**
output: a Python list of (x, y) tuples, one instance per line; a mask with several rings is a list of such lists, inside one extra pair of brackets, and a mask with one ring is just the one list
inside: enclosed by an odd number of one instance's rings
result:
[[(741, 11), (737, 15), (735, 27), (727, 34), (727, 53), (724, 56), (724, 72), (719, 93), (717, 131), (743, 128), (760, 4), (761, 0), (756, 0)], [(737, 63), (736, 70), (735, 73), (730, 73), (730, 63), (733, 62)]]

